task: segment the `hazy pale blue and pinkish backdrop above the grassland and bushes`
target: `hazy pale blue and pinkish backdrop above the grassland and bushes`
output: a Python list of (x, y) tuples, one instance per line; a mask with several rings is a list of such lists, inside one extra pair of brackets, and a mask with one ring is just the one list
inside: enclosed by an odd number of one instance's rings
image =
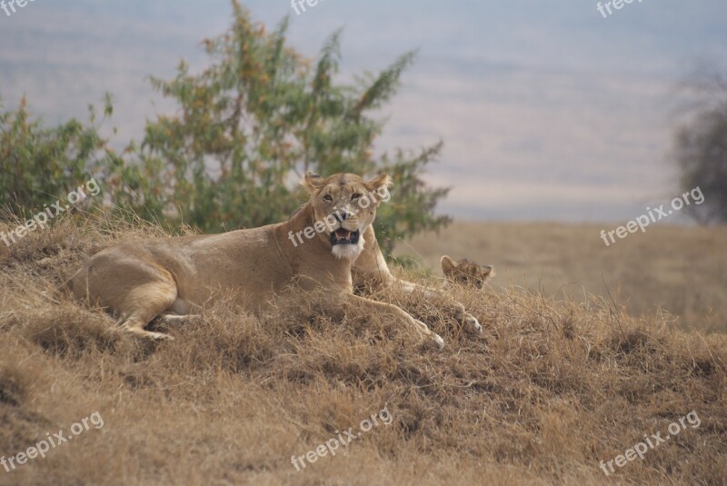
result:
[[(679, 195), (670, 162), (675, 85), (697, 62), (727, 66), (727, 1), (638, 0), (608, 18), (590, 0), (285, 0), (243, 2), (317, 55), (344, 27), (342, 76), (419, 49), (378, 150), (444, 141), (426, 179), (452, 186), (440, 206), (463, 219), (625, 222)], [(26, 94), (56, 124), (115, 96), (116, 144), (174, 105), (147, 76), (230, 25), (227, 0), (35, 0), (0, 10), (0, 95)], [(109, 126), (110, 128), (110, 126)], [(673, 218), (674, 223), (678, 218)]]

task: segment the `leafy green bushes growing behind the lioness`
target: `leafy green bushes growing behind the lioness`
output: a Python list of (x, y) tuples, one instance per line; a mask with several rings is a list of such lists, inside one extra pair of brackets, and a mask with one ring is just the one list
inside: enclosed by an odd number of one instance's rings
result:
[[(3, 167), (0, 187), (12, 188), (13, 209), (34, 203), (39, 190), (63, 192), (94, 172), (111, 211), (122, 217), (209, 233), (287, 219), (305, 201), (297, 183), (306, 171), (386, 172), (393, 198), (376, 223), (385, 253), (397, 239), (448, 223), (434, 214), (446, 190), (429, 188), (421, 178), (441, 143), (373, 155), (383, 121), (372, 112), (392, 99), (413, 53), (379, 74), (336, 84), (340, 32), (311, 61), (286, 44), (287, 18), (267, 33), (237, 1), (233, 6), (231, 28), (204, 40), (209, 67), (191, 74), (183, 61), (174, 79), (152, 78), (177, 111), (147, 122), (141, 144), (132, 142), (123, 154), (108, 149), (93, 116), (89, 126), (71, 121), (45, 130), (26, 123), (25, 105), (5, 114), (3, 164), (20, 170), (11, 174)], [(105, 114), (111, 114), (106, 101)]]

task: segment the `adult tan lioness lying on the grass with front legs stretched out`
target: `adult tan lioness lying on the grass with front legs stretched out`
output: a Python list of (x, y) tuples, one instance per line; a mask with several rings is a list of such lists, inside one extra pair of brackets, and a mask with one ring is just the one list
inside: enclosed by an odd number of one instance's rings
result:
[[(122, 329), (152, 339), (171, 339), (144, 330), (163, 313), (186, 315), (215, 291), (238, 291), (238, 303), (259, 311), (292, 285), (324, 289), (341, 303), (354, 303), (369, 312), (401, 319), (429, 342), (443, 339), (401, 308), (354, 295), (354, 279), (369, 285), (401, 283), (389, 272), (376, 242), (372, 223), (381, 198), (388, 193), (389, 176), (364, 182), (358, 175), (323, 178), (305, 174), (301, 183), (310, 194), (284, 223), (222, 234), (204, 234), (119, 243), (95, 253), (68, 281), (77, 299), (87, 299), (120, 316)], [(305, 234), (304, 244), (300, 235)], [(294, 244), (295, 243), (295, 244)], [(431, 292), (431, 291), (427, 291)], [(452, 303), (455, 318), (471, 331), (480, 323), (463, 305)]]

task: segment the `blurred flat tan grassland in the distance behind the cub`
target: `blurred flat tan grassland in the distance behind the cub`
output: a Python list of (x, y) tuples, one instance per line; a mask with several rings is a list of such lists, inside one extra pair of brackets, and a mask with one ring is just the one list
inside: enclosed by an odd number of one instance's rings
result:
[[(727, 332), (727, 227), (649, 226), (606, 246), (601, 230), (614, 225), (563, 223), (453, 223), (397, 246), (441, 275), (439, 259), (471, 258), (492, 264), (493, 289), (519, 285), (563, 301), (584, 295), (612, 298), (628, 312), (662, 308), (675, 325)], [(444, 251), (446, 250), (446, 251)]]

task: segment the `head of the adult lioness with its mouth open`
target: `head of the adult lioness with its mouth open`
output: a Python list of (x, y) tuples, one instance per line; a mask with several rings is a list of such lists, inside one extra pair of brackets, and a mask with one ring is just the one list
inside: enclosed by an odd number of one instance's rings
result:
[[(362, 233), (376, 218), (376, 209), (391, 199), (389, 176), (364, 181), (355, 174), (321, 177), (305, 174), (301, 185), (311, 194), (318, 237), (337, 258), (355, 260), (364, 250)], [(323, 231), (318, 231), (319, 228)]]

